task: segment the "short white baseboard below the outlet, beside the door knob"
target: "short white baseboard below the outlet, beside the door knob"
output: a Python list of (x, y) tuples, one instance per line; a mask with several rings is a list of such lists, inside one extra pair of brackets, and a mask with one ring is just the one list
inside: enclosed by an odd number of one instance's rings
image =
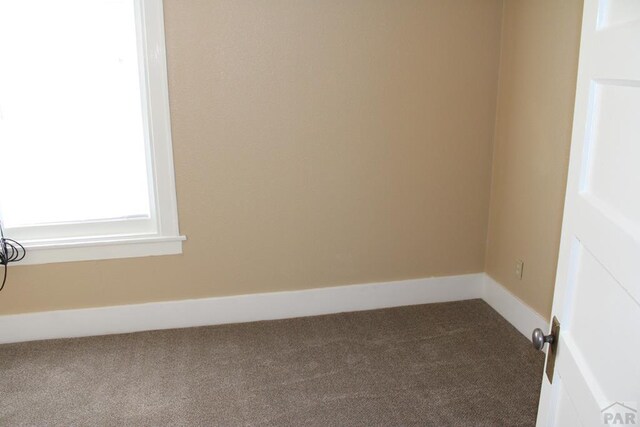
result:
[(531, 337), (535, 328), (545, 333), (549, 331), (547, 319), (487, 274), (484, 275), (482, 299), (527, 338)]

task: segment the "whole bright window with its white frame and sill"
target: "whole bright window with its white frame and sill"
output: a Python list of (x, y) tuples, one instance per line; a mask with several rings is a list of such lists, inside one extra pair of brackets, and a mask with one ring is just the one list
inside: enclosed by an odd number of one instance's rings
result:
[(43, 263), (180, 253), (162, 0), (0, 0), (0, 218)]

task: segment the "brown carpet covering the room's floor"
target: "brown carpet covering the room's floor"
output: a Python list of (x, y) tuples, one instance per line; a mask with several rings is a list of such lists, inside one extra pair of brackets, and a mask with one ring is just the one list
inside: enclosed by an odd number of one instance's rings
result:
[(534, 425), (542, 353), (481, 300), (0, 346), (0, 425)]

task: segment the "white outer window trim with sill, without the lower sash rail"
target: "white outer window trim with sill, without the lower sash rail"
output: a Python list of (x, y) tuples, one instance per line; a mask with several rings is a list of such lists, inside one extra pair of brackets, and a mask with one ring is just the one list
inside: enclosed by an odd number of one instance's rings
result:
[[(143, 105), (149, 125), (148, 164), (155, 192), (151, 198), (155, 231), (22, 240), (20, 243), (26, 248), (27, 256), (13, 264), (15, 266), (182, 253), (182, 242), (186, 237), (180, 235), (178, 227), (162, 0), (135, 0), (135, 5), (142, 80), (147, 94)], [(106, 231), (108, 223), (105, 224)], [(10, 229), (7, 231), (7, 237), (11, 237)]]

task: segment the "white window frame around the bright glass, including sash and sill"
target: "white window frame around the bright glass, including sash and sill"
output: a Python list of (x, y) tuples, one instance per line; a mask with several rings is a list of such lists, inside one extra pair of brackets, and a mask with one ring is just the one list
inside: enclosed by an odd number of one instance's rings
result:
[(16, 265), (182, 253), (186, 237), (178, 223), (162, 0), (134, 0), (134, 9), (150, 218), (5, 228), (7, 237), (27, 249)]

